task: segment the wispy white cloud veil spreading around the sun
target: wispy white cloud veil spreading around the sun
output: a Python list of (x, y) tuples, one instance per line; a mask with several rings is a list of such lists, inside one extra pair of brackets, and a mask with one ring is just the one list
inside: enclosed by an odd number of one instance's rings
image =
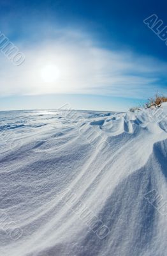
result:
[[(142, 99), (166, 91), (167, 64), (162, 61), (97, 47), (91, 36), (78, 31), (59, 29), (53, 35), (52, 40), (22, 44), (26, 59), (19, 67), (1, 56), (1, 96), (91, 93)], [(59, 69), (52, 83), (41, 76), (47, 65)]]

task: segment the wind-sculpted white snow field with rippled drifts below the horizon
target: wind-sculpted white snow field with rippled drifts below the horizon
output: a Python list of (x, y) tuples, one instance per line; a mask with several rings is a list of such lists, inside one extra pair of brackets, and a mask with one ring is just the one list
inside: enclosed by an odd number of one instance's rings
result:
[(0, 112), (0, 255), (166, 256), (166, 116)]

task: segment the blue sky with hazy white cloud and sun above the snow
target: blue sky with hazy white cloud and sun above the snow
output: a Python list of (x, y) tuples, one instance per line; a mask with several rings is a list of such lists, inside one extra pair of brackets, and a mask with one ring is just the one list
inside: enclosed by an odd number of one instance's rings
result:
[(0, 31), (25, 54), (0, 52), (0, 109), (126, 110), (167, 92), (167, 46), (143, 20), (167, 26), (165, 1), (4, 1)]

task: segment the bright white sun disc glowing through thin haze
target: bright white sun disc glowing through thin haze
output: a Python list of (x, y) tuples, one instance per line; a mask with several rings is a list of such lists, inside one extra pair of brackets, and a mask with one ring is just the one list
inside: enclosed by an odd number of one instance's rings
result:
[(46, 65), (40, 70), (41, 79), (45, 83), (54, 83), (60, 77), (60, 70), (56, 65)]

